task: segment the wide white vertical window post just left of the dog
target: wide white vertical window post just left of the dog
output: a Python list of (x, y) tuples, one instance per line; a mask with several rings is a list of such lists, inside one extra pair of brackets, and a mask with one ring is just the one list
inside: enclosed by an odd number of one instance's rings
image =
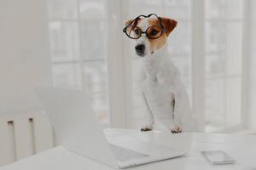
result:
[(122, 30), (122, 26), (118, 21), (122, 20), (122, 14), (120, 14), (120, 10), (116, 10), (123, 2), (125, 1), (108, 1), (108, 26), (111, 26), (108, 29), (108, 37), (111, 37), (108, 39), (108, 83), (111, 127), (125, 127), (125, 109), (129, 108), (126, 107), (128, 103), (125, 100), (125, 78), (129, 78), (126, 77), (126, 73), (129, 74), (129, 71), (125, 73), (125, 70), (128, 68), (126, 68), (126, 65), (123, 65), (125, 59), (123, 54), (125, 53), (122, 50), (123, 42), (119, 38), (122, 37), (122, 32), (119, 31)]

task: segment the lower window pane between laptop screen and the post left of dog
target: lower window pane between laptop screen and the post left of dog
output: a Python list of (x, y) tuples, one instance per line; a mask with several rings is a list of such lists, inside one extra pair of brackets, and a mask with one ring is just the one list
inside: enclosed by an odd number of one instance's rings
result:
[(106, 62), (84, 63), (84, 88), (90, 93), (91, 104), (103, 125), (109, 125), (108, 65)]

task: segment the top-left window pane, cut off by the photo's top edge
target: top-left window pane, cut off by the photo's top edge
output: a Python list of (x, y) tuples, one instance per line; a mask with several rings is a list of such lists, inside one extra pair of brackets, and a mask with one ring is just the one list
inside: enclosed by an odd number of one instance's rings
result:
[(76, 19), (77, 1), (76, 0), (48, 0), (49, 19)]

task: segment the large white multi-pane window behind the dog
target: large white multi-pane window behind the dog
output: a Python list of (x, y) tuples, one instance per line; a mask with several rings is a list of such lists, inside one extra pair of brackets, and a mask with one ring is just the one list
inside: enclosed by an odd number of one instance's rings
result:
[[(52, 0), (49, 37), (56, 85), (84, 88), (106, 126), (139, 127), (145, 108), (140, 61), (125, 20), (156, 13), (177, 20), (169, 37), (193, 111), (207, 132), (240, 125), (243, 0)], [(199, 67), (198, 67), (199, 66)], [(117, 67), (118, 69), (113, 69)], [(109, 112), (111, 111), (111, 114)], [(115, 121), (114, 117), (118, 117)]]

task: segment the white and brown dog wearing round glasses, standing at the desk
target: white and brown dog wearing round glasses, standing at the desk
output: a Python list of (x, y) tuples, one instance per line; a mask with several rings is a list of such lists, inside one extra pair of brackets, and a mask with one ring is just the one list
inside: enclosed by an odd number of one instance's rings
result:
[(147, 107), (147, 118), (141, 131), (152, 130), (154, 119), (172, 133), (197, 131), (188, 94), (167, 52), (167, 39), (176, 26), (176, 20), (156, 14), (140, 15), (125, 22), (124, 32), (135, 39), (135, 52), (143, 60), (138, 83)]

